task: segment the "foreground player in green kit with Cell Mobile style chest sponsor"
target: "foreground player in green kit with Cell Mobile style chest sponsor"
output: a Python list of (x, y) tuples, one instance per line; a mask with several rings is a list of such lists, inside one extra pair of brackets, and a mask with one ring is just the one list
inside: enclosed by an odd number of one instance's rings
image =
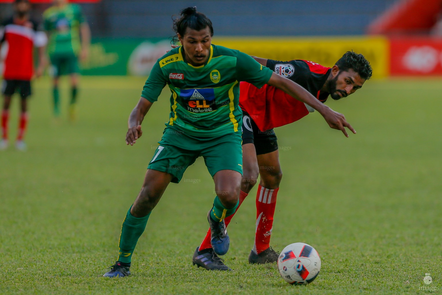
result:
[(185, 8), (180, 15), (174, 20), (174, 31), (182, 46), (156, 62), (129, 116), (126, 144), (132, 146), (142, 134), (141, 123), (152, 103), (168, 85), (169, 120), (148, 165), (141, 191), (123, 220), (118, 259), (105, 277), (130, 275), (133, 250), (152, 209), (168, 184), (179, 183), (184, 171), (199, 156), (204, 157), (213, 177), (215, 192), (222, 192), (217, 193), (207, 215), (211, 245), (218, 255), (227, 253), (230, 240), (224, 218), (238, 206), (242, 177), (239, 81), (256, 87), (267, 83), (280, 88), (319, 111), (331, 128), (341, 130), (347, 137), (344, 126), (355, 133), (342, 114), (320, 103), (298, 84), (247, 54), (212, 45), (212, 23), (196, 8)]

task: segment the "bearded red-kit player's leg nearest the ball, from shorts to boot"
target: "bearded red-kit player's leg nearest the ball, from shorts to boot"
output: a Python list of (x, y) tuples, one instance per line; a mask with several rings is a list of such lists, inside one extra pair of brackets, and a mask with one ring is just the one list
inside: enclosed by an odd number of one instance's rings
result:
[(255, 134), (255, 147), (260, 181), (256, 193), (255, 243), (249, 255), (249, 262), (267, 263), (278, 259), (278, 253), (269, 244), (276, 197), (282, 177), (274, 130), (259, 131)]

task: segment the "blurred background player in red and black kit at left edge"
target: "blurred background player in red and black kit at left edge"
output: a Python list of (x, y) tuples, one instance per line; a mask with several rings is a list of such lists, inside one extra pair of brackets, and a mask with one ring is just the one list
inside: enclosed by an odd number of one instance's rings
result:
[[(31, 4), (28, 0), (14, 1), (14, 15), (0, 28), (0, 48), (7, 42), (8, 53), (4, 60), (2, 93), (4, 95), (1, 114), (2, 138), (0, 149), (8, 147), (8, 121), (11, 97), (18, 92), (21, 113), (15, 147), (25, 150), (23, 136), (27, 126), (27, 98), (31, 94), (30, 80), (42, 75), (45, 64), (46, 34), (39, 31), (38, 23), (30, 19)], [(38, 68), (34, 73), (34, 46), (38, 47)]]

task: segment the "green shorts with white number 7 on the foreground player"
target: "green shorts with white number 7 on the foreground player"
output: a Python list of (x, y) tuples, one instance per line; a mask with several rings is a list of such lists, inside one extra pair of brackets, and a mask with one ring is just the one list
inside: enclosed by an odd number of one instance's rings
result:
[(213, 177), (220, 170), (234, 170), (243, 174), (241, 133), (226, 134), (216, 138), (195, 138), (183, 131), (166, 127), (160, 145), (147, 169), (173, 175), (172, 182), (179, 183), (184, 171), (202, 156)]

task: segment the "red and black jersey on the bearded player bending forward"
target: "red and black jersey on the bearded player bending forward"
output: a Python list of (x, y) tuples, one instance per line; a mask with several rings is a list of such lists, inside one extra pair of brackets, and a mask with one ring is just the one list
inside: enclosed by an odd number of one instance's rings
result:
[[(312, 61), (271, 59), (267, 60), (267, 67), (301, 85), (322, 103), (327, 100), (329, 93), (320, 89), (331, 68)], [(268, 84), (256, 88), (247, 82), (240, 82), (240, 107), (253, 116), (256, 126), (262, 131), (293, 123), (309, 114), (304, 103)]]

